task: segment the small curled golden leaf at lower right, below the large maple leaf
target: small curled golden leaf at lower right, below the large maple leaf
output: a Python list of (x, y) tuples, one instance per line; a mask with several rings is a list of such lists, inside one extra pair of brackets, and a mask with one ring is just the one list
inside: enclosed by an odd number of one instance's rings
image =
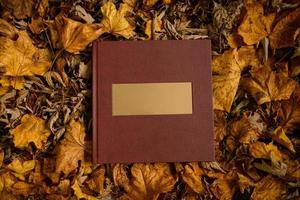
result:
[(255, 142), (249, 145), (249, 151), (254, 158), (270, 159), (275, 163), (282, 161), (281, 152), (273, 143)]

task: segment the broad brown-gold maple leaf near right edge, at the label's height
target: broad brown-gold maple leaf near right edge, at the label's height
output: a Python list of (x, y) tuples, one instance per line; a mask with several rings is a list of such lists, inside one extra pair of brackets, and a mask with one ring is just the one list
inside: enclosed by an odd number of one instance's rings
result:
[(272, 100), (289, 99), (297, 82), (288, 77), (288, 66), (282, 65), (277, 71), (270, 66), (260, 65), (251, 70), (251, 78), (244, 78), (241, 86), (249, 92), (258, 105)]

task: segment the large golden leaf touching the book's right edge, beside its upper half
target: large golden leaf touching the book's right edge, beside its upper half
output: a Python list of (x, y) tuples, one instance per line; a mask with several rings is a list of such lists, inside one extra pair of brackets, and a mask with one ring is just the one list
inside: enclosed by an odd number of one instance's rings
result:
[(243, 68), (257, 63), (256, 52), (252, 46), (242, 47), (239, 51), (228, 50), (213, 58), (214, 109), (230, 111)]

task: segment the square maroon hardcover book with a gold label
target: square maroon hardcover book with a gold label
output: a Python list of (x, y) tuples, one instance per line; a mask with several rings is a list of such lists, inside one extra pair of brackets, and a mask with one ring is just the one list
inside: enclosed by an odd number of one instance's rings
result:
[(93, 43), (93, 162), (214, 160), (209, 40)]

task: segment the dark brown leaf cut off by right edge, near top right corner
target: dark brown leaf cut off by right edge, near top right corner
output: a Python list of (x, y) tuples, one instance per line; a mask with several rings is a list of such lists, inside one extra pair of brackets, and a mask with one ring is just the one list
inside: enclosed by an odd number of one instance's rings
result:
[(270, 43), (272, 48), (291, 47), (300, 33), (300, 7), (280, 19), (272, 33)]

